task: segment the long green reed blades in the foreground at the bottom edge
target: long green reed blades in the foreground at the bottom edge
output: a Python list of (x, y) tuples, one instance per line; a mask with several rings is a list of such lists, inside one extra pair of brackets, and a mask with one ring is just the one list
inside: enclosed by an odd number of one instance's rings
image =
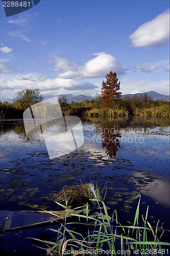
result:
[[(95, 189), (91, 186), (92, 193), (95, 198)], [(91, 199), (96, 202), (100, 209), (98, 216), (89, 215), (89, 205), (86, 204), (85, 214), (71, 214), (71, 209), (67, 209), (70, 215), (79, 217), (83, 222), (66, 223), (66, 217), (63, 218), (63, 223), (60, 224), (59, 229), (52, 229), (56, 232), (57, 241), (43, 241), (35, 239), (46, 245), (46, 248), (39, 247), (46, 251), (46, 255), (165, 255), (169, 243), (160, 242), (158, 237), (158, 223), (153, 228), (148, 222), (148, 210), (142, 216), (142, 224), (139, 225), (139, 205), (136, 208), (136, 214), (132, 225), (121, 225), (117, 220), (117, 211), (114, 210), (112, 216), (108, 215), (105, 203), (99, 199)], [(56, 202), (61, 205), (60, 203)], [(62, 205), (62, 207), (65, 207)], [(80, 207), (79, 207), (80, 208)], [(82, 225), (82, 230), (86, 229), (87, 235), (83, 236), (81, 233), (69, 229), (69, 225)], [(162, 247), (163, 246), (163, 247)]]

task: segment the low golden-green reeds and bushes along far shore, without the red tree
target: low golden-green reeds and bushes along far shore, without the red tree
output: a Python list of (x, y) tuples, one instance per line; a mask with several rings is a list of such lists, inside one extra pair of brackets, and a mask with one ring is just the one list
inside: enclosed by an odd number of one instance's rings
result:
[[(38, 101), (29, 101), (25, 104), (21, 100), (14, 100), (13, 103), (0, 101), (0, 120), (23, 118), (23, 112)], [(59, 99), (63, 115), (76, 115), (81, 117), (99, 118), (128, 118), (130, 115), (137, 117), (160, 117), (169, 119), (169, 102), (163, 100), (154, 101), (145, 94), (144, 96), (126, 96), (118, 99), (116, 103), (103, 106), (100, 95), (95, 99), (85, 99), (82, 102), (68, 103), (63, 96)]]

